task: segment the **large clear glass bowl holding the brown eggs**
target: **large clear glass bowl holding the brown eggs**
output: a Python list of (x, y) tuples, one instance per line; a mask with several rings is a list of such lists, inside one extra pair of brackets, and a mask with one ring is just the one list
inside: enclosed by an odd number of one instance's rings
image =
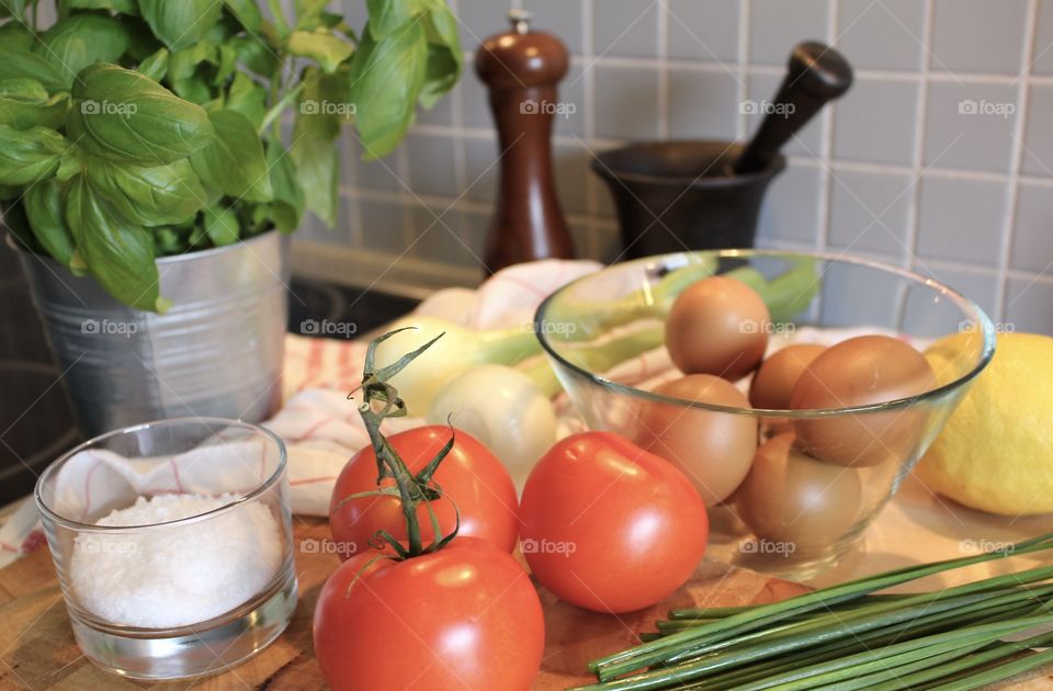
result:
[[(774, 410), (653, 393), (680, 374), (666, 353), (665, 315), (684, 286), (714, 274), (738, 277), (761, 294), (771, 321), (739, 329), (765, 329), (768, 354), (791, 342), (831, 344), (865, 333), (895, 336), (922, 351), (936, 339), (958, 337), (941, 342), (939, 366), (930, 359), (936, 384), (909, 398)], [(995, 349), (983, 310), (937, 281), (846, 256), (772, 250), (680, 252), (614, 264), (550, 295), (534, 328), (590, 429), (629, 437), (695, 483), (711, 507), (711, 555), (801, 579), (852, 548)], [(744, 393), (750, 376), (736, 383)], [(727, 429), (757, 434), (761, 452), (749, 461), (746, 451), (744, 465), (731, 452), (714, 451), (727, 449), (717, 439)], [(824, 435), (838, 435), (857, 451), (831, 462), (802, 443)], [(714, 483), (725, 488), (710, 491)]]

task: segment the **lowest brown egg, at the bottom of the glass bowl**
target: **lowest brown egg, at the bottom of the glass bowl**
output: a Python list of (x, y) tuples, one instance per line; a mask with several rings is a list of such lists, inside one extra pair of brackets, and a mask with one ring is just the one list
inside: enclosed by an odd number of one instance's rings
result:
[(793, 432), (765, 442), (735, 492), (738, 517), (757, 537), (791, 543), (795, 553), (825, 548), (859, 519), (859, 471), (830, 465), (792, 449)]

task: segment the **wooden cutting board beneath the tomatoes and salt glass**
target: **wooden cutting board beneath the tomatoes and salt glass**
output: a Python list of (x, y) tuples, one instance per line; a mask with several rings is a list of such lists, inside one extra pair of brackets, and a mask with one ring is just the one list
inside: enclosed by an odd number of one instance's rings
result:
[[(304, 552), (304, 540), (324, 540), (320, 519), (295, 518), (299, 605), (285, 633), (246, 664), (222, 675), (163, 684), (172, 689), (267, 688), (322, 689), (325, 682), (310, 643), (310, 615), (318, 590), (339, 563), (331, 554)], [(705, 562), (697, 576), (666, 602), (649, 611), (611, 616), (585, 612), (542, 592), (545, 608), (545, 659), (535, 689), (565, 689), (590, 680), (585, 664), (626, 648), (641, 631), (654, 631), (655, 619), (671, 607), (733, 605), (788, 598), (799, 585)], [(132, 681), (89, 662), (73, 642), (66, 607), (46, 546), (0, 569), (0, 689), (111, 689), (159, 684)]]

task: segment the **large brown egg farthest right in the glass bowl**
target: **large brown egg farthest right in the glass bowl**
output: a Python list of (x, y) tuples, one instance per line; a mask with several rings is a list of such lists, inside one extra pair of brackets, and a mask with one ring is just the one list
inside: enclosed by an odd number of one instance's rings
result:
[[(917, 396), (936, 383), (932, 367), (909, 344), (887, 336), (860, 336), (831, 346), (805, 369), (790, 407), (869, 406)], [(898, 407), (799, 419), (797, 448), (838, 465), (899, 462), (914, 450), (927, 422), (924, 408)]]

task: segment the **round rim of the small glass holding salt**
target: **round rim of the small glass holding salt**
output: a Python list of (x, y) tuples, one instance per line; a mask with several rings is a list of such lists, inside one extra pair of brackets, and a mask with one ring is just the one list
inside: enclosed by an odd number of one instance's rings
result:
[[(262, 480), (259, 485), (257, 485), (256, 488), (252, 489), (252, 491), (246, 492), (245, 495), (241, 495), (237, 499), (234, 499), (222, 506), (218, 506), (215, 509), (210, 509), (208, 511), (204, 511), (202, 513), (195, 513), (194, 516), (188, 516), (181, 519), (173, 519), (171, 521), (161, 521), (159, 523), (141, 523), (137, 525), (97, 525), (94, 523), (84, 523), (82, 521), (76, 521), (73, 519), (69, 519), (69, 518), (66, 518), (65, 516), (59, 514), (52, 507), (49, 507), (47, 502), (44, 500), (42, 492), (43, 492), (43, 487), (45, 482), (53, 474), (58, 473), (59, 468), (61, 468), (67, 461), (69, 461), (71, 457), (73, 457), (76, 454), (80, 453), (81, 451), (84, 451), (89, 448), (98, 445), (98, 443), (101, 442), (102, 440), (117, 437), (121, 434), (131, 434), (133, 432), (149, 430), (150, 428), (158, 428), (158, 427), (165, 427), (165, 426), (174, 427), (174, 426), (186, 424), (186, 423), (223, 424), (223, 426), (226, 426), (227, 428), (236, 427), (236, 428), (249, 430), (251, 432), (261, 434), (263, 438), (274, 442), (278, 446), (279, 458), (278, 458), (278, 465), (274, 468), (274, 472), (271, 473), (271, 475), (268, 476), (267, 479)], [(285, 449), (285, 442), (283, 442), (278, 434), (275, 434), (274, 432), (272, 432), (271, 430), (264, 427), (260, 427), (259, 424), (252, 424), (251, 422), (245, 422), (242, 420), (233, 420), (228, 418), (215, 418), (215, 417), (166, 418), (163, 420), (151, 420), (149, 422), (141, 422), (139, 424), (131, 424), (128, 427), (117, 428), (115, 430), (111, 430), (109, 432), (103, 432), (102, 434), (92, 437), (88, 441), (77, 444), (76, 446), (73, 446), (66, 453), (64, 453), (61, 456), (53, 461), (50, 464), (48, 464), (46, 468), (44, 468), (44, 472), (41, 473), (39, 478), (37, 478), (36, 480), (36, 486), (33, 489), (33, 498), (36, 501), (37, 509), (47, 519), (65, 528), (76, 529), (78, 532), (81, 532), (81, 533), (115, 534), (115, 533), (129, 532), (129, 531), (149, 530), (155, 528), (189, 525), (192, 523), (197, 523), (201, 521), (208, 520), (220, 513), (227, 513), (234, 510), (235, 507), (246, 503), (248, 501), (251, 501), (254, 498), (259, 497), (282, 478), (282, 476), (285, 473), (285, 465), (287, 460), (288, 460), (288, 453)]]

